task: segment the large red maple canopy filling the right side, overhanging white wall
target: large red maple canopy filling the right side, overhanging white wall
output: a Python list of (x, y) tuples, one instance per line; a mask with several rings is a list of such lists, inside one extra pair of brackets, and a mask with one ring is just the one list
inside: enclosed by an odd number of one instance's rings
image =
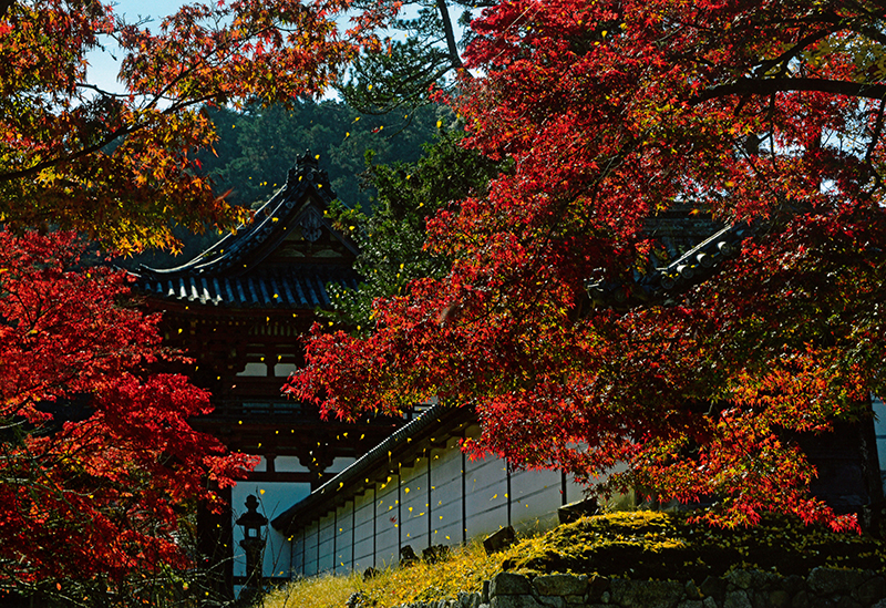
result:
[[(604, 490), (715, 501), (703, 517), (723, 525), (855, 528), (810, 497), (793, 437), (869, 416), (885, 388), (884, 19), (873, 2), (485, 9), (477, 78), (451, 103), (513, 173), (429, 221), (445, 279), (377, 301), (368, 337), (318, 328), (287, 390), (343, 418), (437, 396), (476, 409), (468, 449), (516, 465), (626, 466)], [(681, 278), (650, 231), (673, 209), (745, 227), (740, 255)], [(588, 285), (609, 299), (588, 306)]]

